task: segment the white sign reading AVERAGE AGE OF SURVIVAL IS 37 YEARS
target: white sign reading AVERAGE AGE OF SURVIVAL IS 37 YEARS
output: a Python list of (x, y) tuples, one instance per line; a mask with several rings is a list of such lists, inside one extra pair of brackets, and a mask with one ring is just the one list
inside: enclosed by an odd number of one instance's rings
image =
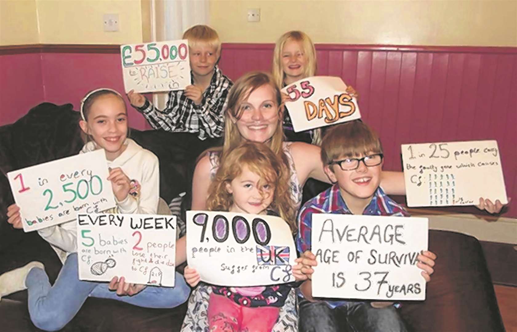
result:
[(311, 236), (313, 296), (425, 299), (415, 264), (428, 248), (427, 218), (313, 214)]

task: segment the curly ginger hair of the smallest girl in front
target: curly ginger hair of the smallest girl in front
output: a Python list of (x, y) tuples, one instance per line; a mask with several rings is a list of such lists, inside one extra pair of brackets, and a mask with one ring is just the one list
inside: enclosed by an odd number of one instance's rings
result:
[(296, 231), (295, 203), (289, 189), (290, 172), (285, 163), (267, 145), (245, 141), (221, 158), (214, 181), (208, 189), (207, 208), (210, 211), (228, 211), (233, 204), (233, 196), (226, 189), (226, 184), (238, 177), (244, 167), (260, 176), (260, 186), (270, 184), (275, 187), (273, 201), (269, 209)]

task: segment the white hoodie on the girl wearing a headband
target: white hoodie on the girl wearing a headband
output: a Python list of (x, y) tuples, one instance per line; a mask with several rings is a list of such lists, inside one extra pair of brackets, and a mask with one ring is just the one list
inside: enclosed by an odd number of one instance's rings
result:
[[(118, 213), (156, 214), (160, 193), (160, 171), (158, 157), (151, 151), (142, 148), (134, 140), (127, 138), (124, 142), (126, 150), (113, 161), (108, 161), (108, 167), (120, 167), (130, 180), (140, 183), (139, 199), (128, 195), (125, 200), (117, 203)], [(90, 141), (79, 153), (90, 152), (99, 147)], [(60, 225), (38, 230), (39, 235), (53, 246), (67, 252), (77, 251), (77, 222), (72, 220)]]

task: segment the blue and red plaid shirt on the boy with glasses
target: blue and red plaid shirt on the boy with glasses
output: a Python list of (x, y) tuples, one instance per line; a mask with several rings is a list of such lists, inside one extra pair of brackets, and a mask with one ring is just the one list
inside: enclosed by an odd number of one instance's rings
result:
[[(336, 183), (326, 191), (310, 199), (303, 204), (298, 214), (298, 234), (296, 235), (296, 248), (300, 254), (306, 250), (311, 250), (311, 230), (313, 213), (335, 213), (353, 214), (348, 209), (341, 197), (339, 185)], [(364, 209), (363, 215), (382, 215), (382, 216), (402, 216), (408, 217), (404, 208), (397, 202), (389, 198), (381, 187), (378, 187), (370, 204)], [(298, 292), (300, 296), (301, 293)], [(325, 301), (331, 308), (336, 308), (346, 303), (346, 301)]]

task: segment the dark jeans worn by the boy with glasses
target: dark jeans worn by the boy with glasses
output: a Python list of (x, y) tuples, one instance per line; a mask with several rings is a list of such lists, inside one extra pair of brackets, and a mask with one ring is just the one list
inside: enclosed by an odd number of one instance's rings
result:
[(393, 306), (373, 308), (368, 302), (346, 302), (330, 308), (325, 302), (302, 299), (298, 309), (300, 332), (407, 331)]

